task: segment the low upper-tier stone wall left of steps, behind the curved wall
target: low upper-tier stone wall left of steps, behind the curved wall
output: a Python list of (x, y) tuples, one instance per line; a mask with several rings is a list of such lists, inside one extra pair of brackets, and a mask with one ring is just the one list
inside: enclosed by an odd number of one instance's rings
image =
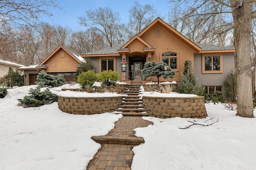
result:
[[(114, 93), (120, 94), (123, 91), (125, 91), (127, 84), (116, 84), (115, 86), (107, 86), (106, 88), (108, 89), (109, 92), (112, 92), (111, 89), (113, 89)], [(89, 87), (87, 89), (61, 89), (62, 91), (70, 90), (70, 91), (82, 91), (82, 92), (87, 92), (87, 93), (104, 93), (105, 89), (104, 87)]]

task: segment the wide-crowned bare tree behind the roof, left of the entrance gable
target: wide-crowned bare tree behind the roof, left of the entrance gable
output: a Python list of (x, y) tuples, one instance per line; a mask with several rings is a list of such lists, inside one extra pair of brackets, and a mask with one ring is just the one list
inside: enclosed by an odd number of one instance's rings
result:
[(109, 47), (115, 44), (115, 34), (119, 29), (121, 17), (118, 12), (113, 12), (109, 7), (86, 11), (86, 16), (78, 17), (80, 25), (89, 27), (104, 35)]

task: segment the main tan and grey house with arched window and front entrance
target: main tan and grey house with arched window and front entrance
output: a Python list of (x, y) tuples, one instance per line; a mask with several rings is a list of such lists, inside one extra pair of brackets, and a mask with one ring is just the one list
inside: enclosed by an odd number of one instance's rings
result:
[(173, 79), (160, 81), (180, 81), (184, 62), (191, 60), (194, 75), (206, 86), (207, 93), (221, 91), (225, 94), (224, 79), (234, 69), (233, 47), (193, 43), (174, 30), (160, 18), (156, 18), (140, 34), (126, 44), (82, 54), (90, 57), (103, 70), (118, 71), (122, 81), (128, 84), (157, 81), (156, 77), (145, 79), (140, 72), (145, 62), (160, 60), (176, 71)]

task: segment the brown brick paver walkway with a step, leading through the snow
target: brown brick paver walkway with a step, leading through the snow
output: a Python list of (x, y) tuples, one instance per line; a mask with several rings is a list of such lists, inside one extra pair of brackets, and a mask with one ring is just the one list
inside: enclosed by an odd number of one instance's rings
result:
[(105, 136), (93, 136), (101, 143), (94, 158), (89, 162), (87, 170), (130, 170), (134, 153), (132, 148), (144, 143), (144, 139), (135, 136), (134, 128), (147, 127), (151, 122), (140, 117), (122, 117), (115, 127)]

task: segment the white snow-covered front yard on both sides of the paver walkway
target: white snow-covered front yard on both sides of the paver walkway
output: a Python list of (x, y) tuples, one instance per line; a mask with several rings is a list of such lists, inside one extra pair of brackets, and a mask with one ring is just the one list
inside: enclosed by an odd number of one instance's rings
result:
[[(8, 89), (0, 99), (0, 170), (86, 169), (100, 148), (91, 136), (107, 134), (122, 115), (71, 115), (56, 102), (18, 106), (16, 99), (31, 87)], [(254, 170), (256, 119), (238, 117), (222, 104), (206, 104), (206, 110), (206, 119), (143, 117), (154, 125), (136, 128), (145, 143), (133, 148), (132, 170)], [(188, 121), (216, 123), (180, 129)]]

